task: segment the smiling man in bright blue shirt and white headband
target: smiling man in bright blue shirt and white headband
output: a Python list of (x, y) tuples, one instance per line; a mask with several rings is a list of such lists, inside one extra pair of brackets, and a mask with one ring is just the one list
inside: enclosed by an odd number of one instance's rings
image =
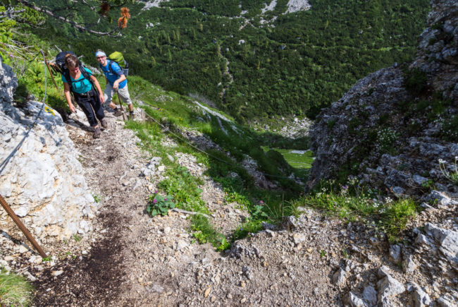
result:
[(106, 54), (102, 50), (98, 49), (95, 52), (95, 57), (99, 61), (99, 66), (104, 72), (106, 78), (106, 88), (104, 90), (104, 103), (108, 104), (111, 109), (114, 110), (115, 116), (120, 116), (122, 113), (120, 109), (116, 107), (111, 99), (113, 98), (113, 92), (118, 92), (118, 97), (120, 97), (125, 104), (129, 107), (129, 118), (134, 118), (134, 106), (132, 100), (130, 100), (129, 90), (128, 90), (128, 80), (125, 78), (123, 68), (119, 66), (118, 63), (110, 59), (106, 59)]

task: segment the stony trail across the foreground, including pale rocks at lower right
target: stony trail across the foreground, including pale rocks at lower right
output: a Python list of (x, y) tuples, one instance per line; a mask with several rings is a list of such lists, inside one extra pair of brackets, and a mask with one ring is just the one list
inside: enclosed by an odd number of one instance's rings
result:
[[(140, 150), (123, 121), (107, 119), (109, 128), (97, 140), (67, 126), (101, 202), (92, 231), (53, 246), (58, 256), (50, 262), (26, 267), (35, 279), (34, 306), (425, 306), (439, 297), (439, 306), (454, 306), (456, 267), (438, 253), (434, 235), (421, 234), (428, 244), (416, 239), (414, 245), (414, 231), (411, 243), (390, 246), (363, 224), (302, 208), (299, 217), (264, 224), (229, 251), (194, 242), (186, 214), (147, 214), (148, 196), (163, 176), (160, 159)], [(225, 203), (221, 187), (191, 155), (171, 158), (203, 176), (202, 198), (216, 227), (234, 229), (247, 216)], [(149, 163), (157, 166), (150, 178), (142, 175)], [(445, 221), (456, 216), (443, 212)]]

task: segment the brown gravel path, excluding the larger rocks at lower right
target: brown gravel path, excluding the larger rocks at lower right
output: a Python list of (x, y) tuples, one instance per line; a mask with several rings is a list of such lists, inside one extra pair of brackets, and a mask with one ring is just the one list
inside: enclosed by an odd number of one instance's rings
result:
[[(312, 245), (296, 245), (288, 231), (256, 234), (233, 251), (218, 253), (193, 242), (186, 215), (149, 217), (147, 197), (156, 187), (140, 174), (151, 157), (137, 148), (137, 138), (122, 121), (107, 118), (109, 128), (99, 140), (68, 127), (88, 185), (102, 205), (94, 233), (74, 243), (77, 250), (89, 252), (75, 251), (74, 259), (45, 264), (42, 272), (32, 270), (39, 275), (35, 306), (338, 303), (330, 283), (333, 267), (323, 265), (328, 260)], [(191, 156), (178, 154), (175, 159), (202, 174)], [(217, 227), (234, 229), (247, 216), (237, 204), (225, 203), (221, 187), (209, 178), (202, 195)], [(319, 232), (327, 241), (328, 229)]]

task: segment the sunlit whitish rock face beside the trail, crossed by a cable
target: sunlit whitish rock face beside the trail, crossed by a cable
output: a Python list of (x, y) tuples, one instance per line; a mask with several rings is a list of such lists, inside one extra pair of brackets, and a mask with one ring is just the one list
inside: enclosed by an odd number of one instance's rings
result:
[[(13, 106), (18, 81), (11, 67), (0, 68), (0, 161), (34, 125), (41, 102)], [(78, 152), (58, 112), (42, 112), (23, 145), (1, 172), (0, 194), (39, 241), (68, 238), (90, 229), (97, 204), (82, 176)], [(18, 229), (0, 208), (0, 229)]]

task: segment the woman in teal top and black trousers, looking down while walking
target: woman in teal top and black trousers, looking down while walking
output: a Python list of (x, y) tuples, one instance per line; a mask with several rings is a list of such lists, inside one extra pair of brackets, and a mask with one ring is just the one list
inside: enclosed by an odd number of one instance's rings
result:
[[(100, 138), (100, 126), (97, 122), (99, 119), (102, 127), (106, 128), (106, 120), (104, 119), (104, 108), (102, 107), (102, 102), (104, 101), (103, 92), (101, 91), (99, 81), (92, 75), (92, 71), (85, 69), (85, 74), (89, 76), (90, 80), (83, 76), (83, 73), (80, 71), (80, 65), (78, 64), (78, 58), (72, 54), (67, 54), (66, 56), (66, 68), (68, 69), (70, 84), (65, 76), (65, 73), (62, 75), (63, 81), (63, 92), (66, 95), (68, 108), (70, 112), (76, 112), (75, 106), (72, 103), (70, 96), (70, 90), (73, 92), (73, 97), (75, 97), (76, 103), (81, 107), (82, 112), (85, 112), (87, 121), (89, 125), (94, 128), (94, 138)], [(93, 88), (92, 83), (94, 83), (95, 88)]]

